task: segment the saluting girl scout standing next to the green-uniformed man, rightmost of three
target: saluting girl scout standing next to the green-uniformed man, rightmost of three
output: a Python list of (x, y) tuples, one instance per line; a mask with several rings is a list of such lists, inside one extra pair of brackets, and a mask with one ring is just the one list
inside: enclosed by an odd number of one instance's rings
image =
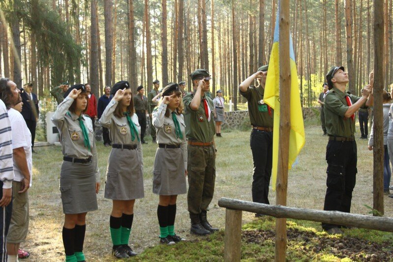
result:
[(152, 113), (158, 143), (153, 193), (160, 195), (157, 208), (160, 243), (168, 245), (184, 240), (174, 233), (176, 198), (187, 193), (187, 141), (181, 94), (177, 84), (169, 84), (162, 90), (162, 98)]

